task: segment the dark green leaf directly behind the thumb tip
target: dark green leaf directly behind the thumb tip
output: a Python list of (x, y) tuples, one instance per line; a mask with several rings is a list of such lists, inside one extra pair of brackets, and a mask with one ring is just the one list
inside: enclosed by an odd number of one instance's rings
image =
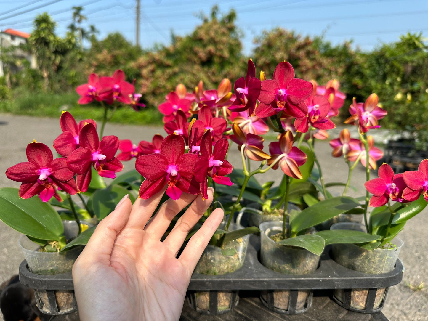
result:
[(120, 185), (110, 185), (101, 190), (97, 190), (92, 197), (92, 208), (98, 220), (102, 220), (116, 207), (117, 203), (125, 196), (129, 194), (131, 202), (135, 202), (135, 196), (130, 190)]

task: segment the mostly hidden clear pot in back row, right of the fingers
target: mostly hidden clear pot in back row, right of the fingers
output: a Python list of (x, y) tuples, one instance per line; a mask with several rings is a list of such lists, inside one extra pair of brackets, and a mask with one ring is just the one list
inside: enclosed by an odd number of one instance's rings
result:
[[(288, 203), (287, 212), (290, 215), (293, 215), (297, 212), (300, 212), (300, 208), (297, 205)], [(247, 214), (248, 226), (259, 226), (263, 222), (271, 221), (281, 221), (282, 222), (282, 212), (276, 211), (276, 214), (263, 213), (261, 206), (258, 203), (251, 203), (247, 207), (244, 207), (239, 211), (238, 216), (236, 217), (236, 223), (241, 224), (244, 214)]]

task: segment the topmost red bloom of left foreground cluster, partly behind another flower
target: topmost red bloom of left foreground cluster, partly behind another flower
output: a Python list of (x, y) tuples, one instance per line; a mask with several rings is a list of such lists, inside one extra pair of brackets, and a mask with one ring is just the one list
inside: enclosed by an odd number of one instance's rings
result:
[(93, 119), (85, 119), (77, 125), (76, 120), (68, 111), (62, 112), (59, 119), (59, 125), (62, 129), (62, 134), (53, 141), (53, 148), (59, 155), (68, 156), (79, 147), (79, 132), (86, 124), (93, 124), (97, 128), (97, 124)]

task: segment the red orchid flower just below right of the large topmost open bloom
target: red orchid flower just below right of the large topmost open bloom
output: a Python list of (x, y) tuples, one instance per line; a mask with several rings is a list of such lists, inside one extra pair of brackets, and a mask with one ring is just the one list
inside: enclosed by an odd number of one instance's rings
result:
[(318, 129), (332, 129), (336, 126), (327, 118), (328, 111), (330, 110), (330, 103), (327, 99), (321, 96), (310, 95), (305, 104), (308, 107), (308, 114), (303, 118), (298, 118), (294, 122), (297, 131), (306, 133), (309, 129), (309, 124)]

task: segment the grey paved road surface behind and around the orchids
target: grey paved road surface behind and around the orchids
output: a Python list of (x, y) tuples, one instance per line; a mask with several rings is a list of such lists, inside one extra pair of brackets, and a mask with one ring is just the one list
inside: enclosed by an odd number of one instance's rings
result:
[[(52, 146), (53, 140), (60, 133), (59, 119), (0, 114), (0, 172), (4, 173), (9, 166), (26, 161), (25, 148), (33, 139)], [(105, 130), (107, 135), (116, 135), (120, 139), (128, 138), (133, 142), (151, 140), (157, 133), (164, 134), (163, 128), (108, 124)], [(347, 166), (341, 158), (331, 157), (330, 146), (326, 142), (320, 142), (316, 144), (315, 149), (325, 181), (346, 181)], [(232, 146), (231, 151), (229, 159), (234, 166), (239, 168), (242, 165), (236, 146)], [(125, 164), (125, 170), (132, 167), (132, 162)], [(350, 190), (350, 196), (363, 195), (364, 177), (363, 167), (358, 166), (351, 181), (351, 184), (357, 187), (357, 191)], [(278, 182), (280, 178), (281, 172), (271, 170), (264, 175), (263, 180)], [(19, 187), (19, 183), (9, 181), (4, 174), (1, 174), (0, 187), (4, 186)], [(337, 192), (341, 192), (341, 190), (338, 189)], [(413, 292), (409, 286), (405, 285), (406, 283), (419, 285), (422, 281), (428, 284), (427, 214), (428, 211), (425, 210), (410, 220), (400, 234), (404, 240), (400, 257), (406, 271), (403, 282), (390, 289), (386, 306), (383, 309), (386, 317), (392, 321), (428, 320), (428, 292), (426, 289)], [(18, 232), (0, 221), (0, 283), (18, 273), (18, 266), (23, 260), (18, 246), (19, 236)]]

